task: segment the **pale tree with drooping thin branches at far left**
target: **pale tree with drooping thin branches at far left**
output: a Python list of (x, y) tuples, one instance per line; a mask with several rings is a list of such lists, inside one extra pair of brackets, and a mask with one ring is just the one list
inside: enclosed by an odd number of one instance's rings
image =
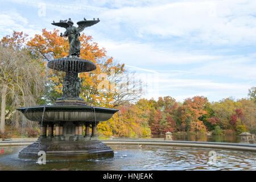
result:
[(6, 96), (11, 94), (16, 105), (31, 106), (43, 90), (42, 67), (26, 49), (0, 46), (1, 132), (5, 132)]

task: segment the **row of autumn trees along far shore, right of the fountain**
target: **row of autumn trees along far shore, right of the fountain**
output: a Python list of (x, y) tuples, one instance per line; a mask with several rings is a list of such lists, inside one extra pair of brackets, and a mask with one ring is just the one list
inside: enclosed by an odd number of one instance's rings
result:
[[(109, 134), (112, 131), (116, 136), (126, 137), (146, 136), (150, 133), (150, 130), (151, 134), (160, 134), (166, 133), (167, 131), (175, 132), (183, 129), (184, 131), (205, 131), (207, 129), (213, 131), (215, 135), (222, 135), (225, 130), (231, 129), (236, 130), (237, 133), (241, 133), (243, 130), (249, 128), (250, 131), (253, 131), (255, 126), (255, 105), (253, 101), (248, 99), (238, 100), (237, 102), (228, 99), (226, 101), (213, 102), (212, 104), (207, 102), (206, 98), (196, 98), (195, 101), (192, 98), (190, 99), (191, 101), (186, 100), (183, 104), (178, 102), (164, 104), (167, 103), (164, 100), (164, 98), (160, 97), (158, 101), (154, 99), (141, 99), (134, 104), (127, 102), (125, 105), (118, 107), (122, 113), (122, 117), (119, 117), (119, 114), (115, 114), (115, 124), (113, 124), (113, 119), (110, 119), (108, 125), (104, 125), (104, 130), (109, 131)], [(223, 103), (223, 101), (225, 102)], [(228, 105), (234, 106), (234, 110), (230, 110), (229, 114), (231, 115), (226, 115), (229, 118), (229, 125), (223, 125), (224, 118), (221, 121), (221, 118), (217, 117), (217, 115), (220, 116), (220, 113), (214, 113), (216, 111), (216, 103), (221, 104), (221, 108), (227, 107), (226, 109), (230, 109)], [(241, 109), (235, 109), (238, 106)], [(187, 120), (185, 121), (182, 120), (184, 119), (184, 108), (191, 113), (191, 115), (187, 115)], [(200, 113), (197, 114), (196, 111), (200, 111)], [(193, 122), (192, 116), (195, 115), (194, 113), (197, 114), (199, 121)], [(230, 122), (232, 115), (236, 115), (236, 127), (233, 127)], [(191, 117), (190, 125), (188, 123), (189, 117)], [(122, 118), (122, 122), (119, 121), (120, 118)], [(191, 126), (194, 130), (191, 130)], [(103, 130), (102, 133), (104, 133)]]

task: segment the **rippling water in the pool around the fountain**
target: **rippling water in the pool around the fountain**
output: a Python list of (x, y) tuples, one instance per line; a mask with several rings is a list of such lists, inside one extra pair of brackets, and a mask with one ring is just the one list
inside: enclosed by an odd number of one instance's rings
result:
[[(110, 145), (114, 158), (71, 162), (71, 170), (256, 170), (255, 152), (195, 147)], [(2, 147), (0, 170), (51, 170), (67, 168), (68, 162), (39, 165), (18, 159), (23, 147)], [(209, 163), (209, 152), (216, 160)]]

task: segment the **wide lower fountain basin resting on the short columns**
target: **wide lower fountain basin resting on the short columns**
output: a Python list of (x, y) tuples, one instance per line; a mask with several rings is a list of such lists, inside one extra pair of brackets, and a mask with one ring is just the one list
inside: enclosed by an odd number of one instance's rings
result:
[(36, 106), (21, 107), (17, 110), (21, 111), (27, 119), (36, 122), (42, 122), (42, 120), (43, 122), (107, 121), (118, 111), (93, 106)]

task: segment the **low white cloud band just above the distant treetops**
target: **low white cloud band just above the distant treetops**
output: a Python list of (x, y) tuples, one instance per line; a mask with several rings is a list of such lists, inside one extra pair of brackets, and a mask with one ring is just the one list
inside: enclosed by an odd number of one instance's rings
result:
[[(150, 75), (147, 75), (147, 77), (150, 77)], [(151, 78), (155, 77), (155, 74), (151, 75)], [(160, 96), (171, 96), (182, 102), (185, 98), (204, 96), (209, 101), (218, 101), (230, 96), (245, 98), (248, 89), (251, 88), (251, 85), (246, 83), (231, 84), (203, 79), (177, 79), (170, 77), (167, 73), (160, 73), (157, 78), (143, 80), (147, 84), (147, 93), (143, 97), (157, 99)]]

